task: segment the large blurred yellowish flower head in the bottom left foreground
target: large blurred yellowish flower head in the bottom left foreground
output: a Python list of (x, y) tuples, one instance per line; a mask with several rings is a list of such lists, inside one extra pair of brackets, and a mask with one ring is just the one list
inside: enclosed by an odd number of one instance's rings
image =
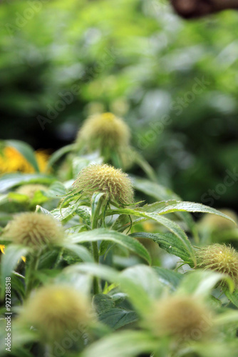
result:
[(67, 332), (82, 332), (90, 321), (90, 306), (69, 286), (45, 286), (26, 302), (20, 319), (36, 328), (44, 342), (60, 341)]

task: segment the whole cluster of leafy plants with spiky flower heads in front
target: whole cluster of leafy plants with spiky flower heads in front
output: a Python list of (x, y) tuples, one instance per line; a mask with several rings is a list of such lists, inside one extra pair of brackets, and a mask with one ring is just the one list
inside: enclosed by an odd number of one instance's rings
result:
[(49, 174), (11, 141), (34, 172), (0, 177), (1, 356), (237, 356), (236, 216), (182, 201), (145, 161), (148, 178), (112, 166), (103, 149), (119, 158), (129, 129), (95, 118), (78, 136), (87, 150), (60, 149)]

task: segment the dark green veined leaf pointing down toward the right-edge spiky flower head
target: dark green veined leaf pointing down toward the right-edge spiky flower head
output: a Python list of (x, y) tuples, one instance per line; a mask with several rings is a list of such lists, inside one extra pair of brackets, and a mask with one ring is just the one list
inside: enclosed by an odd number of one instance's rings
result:
[(190, 251), (188, 251), (187, 246), (185, 246), (181, 239), (175, 236), (175, 234), (138, 232), (132, 233), (130, 236), (152, 239), (152, 241), (159, 244), (160, 248), (165, 249), (167, 253), (179, 256), (183, 261), (191, 261)]

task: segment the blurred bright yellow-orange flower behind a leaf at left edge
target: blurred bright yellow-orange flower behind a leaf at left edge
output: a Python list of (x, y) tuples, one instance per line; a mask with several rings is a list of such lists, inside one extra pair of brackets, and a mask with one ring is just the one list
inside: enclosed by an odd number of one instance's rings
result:
[[(35, 151), (36, 161), (41, 172), (46, 172), (46, 166), (48, 162), (48, 154), (46, 151)], [(0, 154), (0, 174), (6, 174), (10, 172), (24, 172), (27, 174), (33, 173), (35, 170), (33, 166), (11, 146), (6, 146)]]

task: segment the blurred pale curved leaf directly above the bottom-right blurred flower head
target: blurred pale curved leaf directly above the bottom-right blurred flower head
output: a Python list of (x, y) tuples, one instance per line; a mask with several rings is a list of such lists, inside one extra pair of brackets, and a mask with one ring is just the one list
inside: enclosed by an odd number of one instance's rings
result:
[(177, 288), (177, 293), (192, 293), (192, 295), (200, 298), (207, 297), (212, 288), (221, 280), (226, 281), (231, 291), (234, 290), (234, 282), (229, 276), (202, 269), (190, 271), (182, 279), (179, 288)]

